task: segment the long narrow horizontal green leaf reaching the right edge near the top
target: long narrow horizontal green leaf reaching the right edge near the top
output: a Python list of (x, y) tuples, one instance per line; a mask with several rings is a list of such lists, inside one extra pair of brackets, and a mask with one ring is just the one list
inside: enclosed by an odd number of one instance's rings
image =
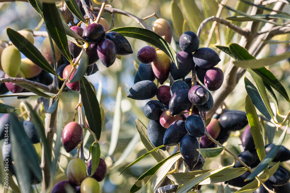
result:
[(290, 16), (289, 15), (284, 15), (284, 14), (256, 14), (256, 15), (252, 15), (252, 18), (249, 18), (247, 16), (233, 16), (233, 17), (228, 17), (226, 19), (228, 20), (232, 20), (232, 21), (258, 21), (254, 18), (262, 18), (262, 19), (285, 19), (285, 20), (290, 20)]

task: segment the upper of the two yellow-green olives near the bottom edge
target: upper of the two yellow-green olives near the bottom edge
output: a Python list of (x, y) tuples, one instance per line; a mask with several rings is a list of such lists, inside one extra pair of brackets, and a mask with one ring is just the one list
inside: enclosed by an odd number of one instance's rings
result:
[(86, 178), (86, 164), (82, 159), (74, 158), (70, 160), (67, 167), (68, 181), (73, 185), (80, 185)]

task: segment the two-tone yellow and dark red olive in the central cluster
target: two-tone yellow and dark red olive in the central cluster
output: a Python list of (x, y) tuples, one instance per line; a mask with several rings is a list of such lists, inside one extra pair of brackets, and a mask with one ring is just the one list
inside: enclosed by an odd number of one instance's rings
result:
[(162, 50), (156, 51), (156, 59), (151, 63), (155, 77), (160, 84), (163, 84), (170, 73), (171, 59)]

